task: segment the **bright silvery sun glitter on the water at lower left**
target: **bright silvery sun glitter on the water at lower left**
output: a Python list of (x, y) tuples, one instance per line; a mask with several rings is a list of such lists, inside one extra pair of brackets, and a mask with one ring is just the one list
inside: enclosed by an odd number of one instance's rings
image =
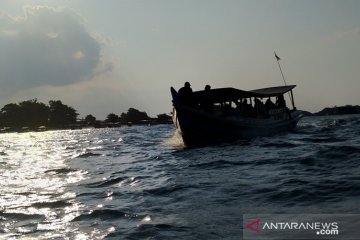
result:
[(0, 135), (0, 229), (7, 237), (70, 231), (81, 203), (67, 186), (86, 178), (65, 163), (76, 154), (68, 147), (74, 137), (71, 131)]

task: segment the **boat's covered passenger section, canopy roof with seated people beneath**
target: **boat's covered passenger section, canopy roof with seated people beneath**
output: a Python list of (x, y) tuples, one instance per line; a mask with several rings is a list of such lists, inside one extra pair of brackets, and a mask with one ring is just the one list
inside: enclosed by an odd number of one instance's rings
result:
[[(295, 111), (292, 89), (296, 85), (271, 87), (244, 91), (235, 88), (218, 88), (193, 92), (192, 107), (208, 114), (226, 118), (271, 118), (290, 117)], [(289, 93), (292, 104), (286, 106), (284, 94)]]

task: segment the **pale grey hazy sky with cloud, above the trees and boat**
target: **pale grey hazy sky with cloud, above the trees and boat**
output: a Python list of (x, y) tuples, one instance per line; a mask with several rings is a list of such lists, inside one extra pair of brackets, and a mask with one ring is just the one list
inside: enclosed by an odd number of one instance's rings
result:
[(170, 113), (170, 87), (295, 84), (311, 112), (360, 104), (358, 0), (1, 0), (0, 107)]

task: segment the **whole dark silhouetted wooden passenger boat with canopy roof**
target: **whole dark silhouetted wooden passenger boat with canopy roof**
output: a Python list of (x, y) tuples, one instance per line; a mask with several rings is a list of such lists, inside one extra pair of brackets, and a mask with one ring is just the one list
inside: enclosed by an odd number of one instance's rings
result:
[[(303, 116), (295, 107), (295, 87), (286, 85), (251, 91), (208, 89), (192, 92), (190, 101), (184, 101), (171, 87), (173, 123), (186, 147), (250, 140), (291, 131)], [(286, 106), (285, 94), (289, 95), (291, 109)]]

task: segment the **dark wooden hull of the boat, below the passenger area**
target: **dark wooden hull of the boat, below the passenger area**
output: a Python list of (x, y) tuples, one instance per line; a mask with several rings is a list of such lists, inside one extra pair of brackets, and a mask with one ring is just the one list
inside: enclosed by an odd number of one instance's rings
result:
[(293, 130), (302, 114), (293, 111), (288, 119), (224, 118), (183, 105), (174, 105), (173, 121), (187, 147), (249, 140)]

